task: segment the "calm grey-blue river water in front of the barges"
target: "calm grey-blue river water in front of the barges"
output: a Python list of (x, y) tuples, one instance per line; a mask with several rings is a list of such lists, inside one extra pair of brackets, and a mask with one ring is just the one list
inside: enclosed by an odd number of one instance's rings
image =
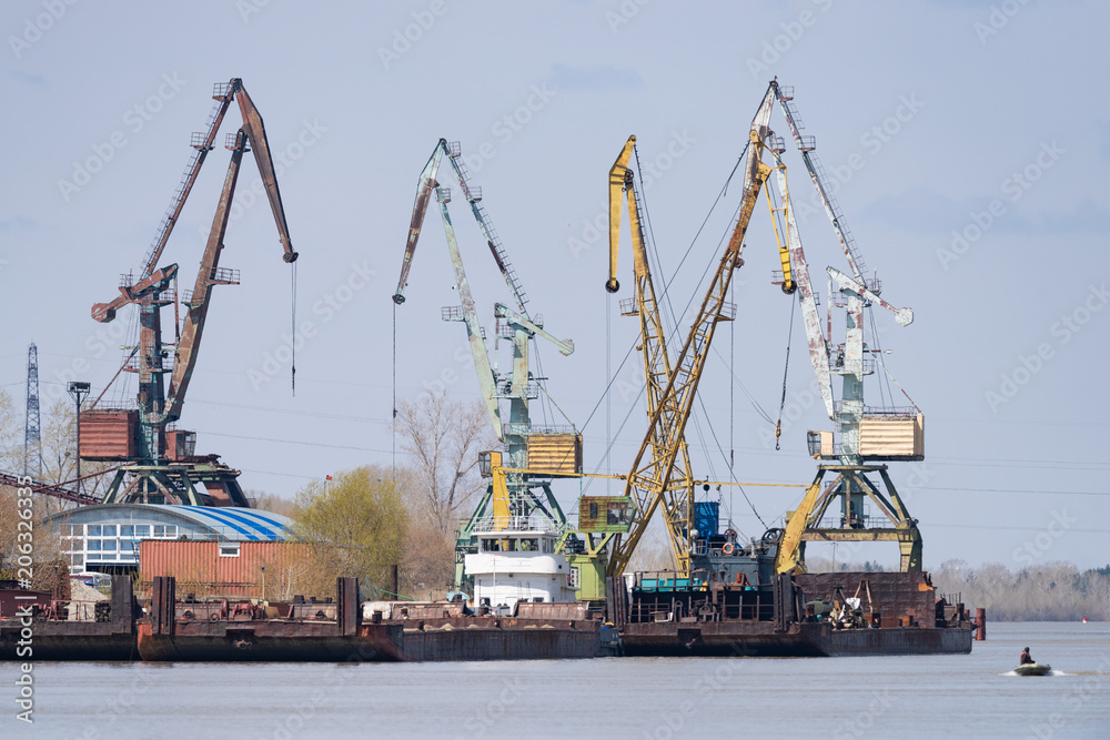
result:
[[(1110, 738), (1110, 622), (991, 624), (970, 656), (0, 663), (0, 739)], [(1026, 646), (1054, 675), (1010, 670)]]

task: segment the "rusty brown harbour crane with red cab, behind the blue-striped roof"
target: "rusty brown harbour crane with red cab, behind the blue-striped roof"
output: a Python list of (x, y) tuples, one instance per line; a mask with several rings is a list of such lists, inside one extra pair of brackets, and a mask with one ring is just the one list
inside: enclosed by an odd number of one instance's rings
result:
[[(246, 93), (243, 81), (234, 78), (218, 83), (212, 98), (215, 105), (209, 115), (206, 131), (192, 136), (195, 151), (143, 257), (139, 275), (124, 274), (119, 284), (120, 295), (92, 307), (92, 317), (101, 323), (113, 321), (117, 312), (125, 305), (139, 307), (139, 344), (130, 348), (120, 368), (120, 372), (139, 376), (138, 403), (125, 402), (112, 407), (107, 403), (100, 404), (98, 398), (88, 410), (82, 412), (80, 420), (81, 457), (121, 463), (104, 498), (108, 504), (250, 506), (238, 481), (240, 472), (220, 463), (215, 455), (196, 456), (195, 434), (173, 427), (181, 417), (185, 392), (196, 366), (212, 286), (239, 284), (239, 271), (221, 267), (220, 255), (244, 153), (254, 152), (278, 225), (283, 260), (293, 263), (297, 253), (293, 251), (289, 236), (262, 116)], [(239, 104), (243, 125), (228, 136), (231, 161), (193, 290), (179, 294), (178, 265), (157, 268), (155, 265), (233, 101)], [(172, 342), (164, 341), (162, 336), (162, 311), (169, 306), (173, 306), (174, 311)], [(184, 312), (184, 316), (179, 323), (180, 311)], [(168, 374), (169, 384), (165, 382)], [(198, 484), (203, 484), (203, 493)]]

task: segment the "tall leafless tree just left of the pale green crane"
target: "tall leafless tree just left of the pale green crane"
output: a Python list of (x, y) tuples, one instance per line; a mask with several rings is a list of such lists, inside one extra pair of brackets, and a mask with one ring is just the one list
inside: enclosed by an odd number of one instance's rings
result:
[(448, 531), (458, 509), (485, 487), (477, 475), (477, 454), (497, 444), (485, 404), (452, 401), (446, 393), (422, 394), (401, 402), (394, 429), (412, 455), (416, 507), (441, 533)]

